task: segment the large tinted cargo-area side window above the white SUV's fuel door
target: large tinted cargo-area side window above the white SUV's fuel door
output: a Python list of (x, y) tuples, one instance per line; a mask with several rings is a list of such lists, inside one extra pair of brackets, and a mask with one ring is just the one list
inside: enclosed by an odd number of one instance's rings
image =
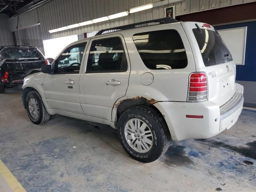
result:
[(181, 69), (188, 65), (182, 39), (176, 30), (134, 34), (133, 41), (149, 69)]

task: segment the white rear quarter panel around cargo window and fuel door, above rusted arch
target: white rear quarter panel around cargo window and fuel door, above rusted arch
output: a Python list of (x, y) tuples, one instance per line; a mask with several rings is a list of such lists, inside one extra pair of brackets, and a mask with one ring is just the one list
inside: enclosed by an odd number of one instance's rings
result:
[[(188, 58), (188, 65), (183, 69), (151, 70), (147, 68), (136, 49), (132, 39), (133, 34), (156, 31), (156, 30), (177, 30), (180, 34)], [(136, 96), (153, 99), (155, 101), (186, 101), (188, 91), (188, 76), (196, 70), (194, 58), (188, 38), (180, 23), (148, 26), (144, 28), (122, 32), (129, 53), (131, 72), (126, 98)], [(168, 38), (168, 36), (166, 37)], [(140, 83), (140, 76), (150, 72), (154, 76), (152, 84), (145, 86)]]

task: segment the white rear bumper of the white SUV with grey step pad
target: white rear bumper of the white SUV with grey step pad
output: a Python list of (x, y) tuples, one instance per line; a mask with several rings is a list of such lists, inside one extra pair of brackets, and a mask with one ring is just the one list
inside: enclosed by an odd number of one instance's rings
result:
[[(213, 137), (231, 128), (243, 108), (243, 89), (237, 86), (236, 94), (223, 106), (205, 102), (157, 102), (154, 104), (164, 115), (173, 140)], [(186, 118), (200, 115), (203, 118)]]

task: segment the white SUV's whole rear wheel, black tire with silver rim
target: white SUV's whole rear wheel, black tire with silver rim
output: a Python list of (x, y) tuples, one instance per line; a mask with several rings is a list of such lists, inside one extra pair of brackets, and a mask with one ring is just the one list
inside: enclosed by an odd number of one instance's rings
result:
[(141, 162), (157, 160), (170, 145), (170, 132), (162, 115), (148, 106), (132, 107), (120, 116), (118, 137), (124, 150)]

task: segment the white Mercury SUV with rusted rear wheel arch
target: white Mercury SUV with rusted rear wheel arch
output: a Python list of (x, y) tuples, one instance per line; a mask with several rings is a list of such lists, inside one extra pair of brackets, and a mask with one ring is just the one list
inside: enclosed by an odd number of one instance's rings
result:
[(236, 123), (244, 98), (235, 78), (212, 26), (163, 18), (70, 44), (24, 79), (23, 103), (35, 124), (60, 114), (117, 128), (132, 158), (152, 162), (171, 139), (209, 138)]

